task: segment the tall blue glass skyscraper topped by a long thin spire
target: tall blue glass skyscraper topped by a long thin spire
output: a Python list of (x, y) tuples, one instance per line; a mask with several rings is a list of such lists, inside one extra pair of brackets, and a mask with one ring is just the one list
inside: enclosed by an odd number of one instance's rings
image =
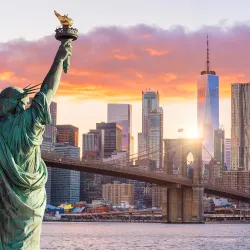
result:
[[(203, 146), (213, 156), (214, 131), (219, 128), (219, 77), (210, 69), (208, 39), (206, 70), (198, 77), (197, 99), (198, 134), (203, 138)], [(210, 160), (205, 150), (203, 160)]]

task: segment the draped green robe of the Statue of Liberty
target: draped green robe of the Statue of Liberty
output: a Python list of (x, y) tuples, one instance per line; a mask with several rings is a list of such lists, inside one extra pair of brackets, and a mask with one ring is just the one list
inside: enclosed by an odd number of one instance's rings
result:
[(0, 120), (0, 250), (40, 249), (47, 181), (40, 145), (50, 122), (42, 92), (28, 109)]

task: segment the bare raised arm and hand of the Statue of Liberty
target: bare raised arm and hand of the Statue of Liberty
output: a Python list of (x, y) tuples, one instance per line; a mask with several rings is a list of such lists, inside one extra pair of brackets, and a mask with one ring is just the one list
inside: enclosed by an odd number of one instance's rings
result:
[(46, 95), (49, 104), (51, 103), (58, 89), (63, 70), (63, 62), (71, 55), (72, 55), (72, 40), (68, 39), (62, 41), (56, 53), (53, 64), (48, 74), (44, 78), (41, 86), (41, 92), (43, 92)]

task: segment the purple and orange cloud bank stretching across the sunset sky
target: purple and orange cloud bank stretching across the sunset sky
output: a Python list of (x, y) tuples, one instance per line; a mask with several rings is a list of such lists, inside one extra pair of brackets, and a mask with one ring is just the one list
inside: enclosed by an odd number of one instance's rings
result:
[[(220, 76), (222, 98), (230, 96), (231, 83), (250, 79), (249, 29), (243, 24), (209, 27), (211, 66)], [(141, 91), (151, 88), (159, 91), (161, 100), (194, 100), (197, 77), (205, 69), (206, 33), (205, 28), (188, 33), (180, 26), (164, 30), (136, 25), (80, 34), (58, 95), (77, 100), (140, 100)], [(0, 90), (42, 82), (58, 46), (53, 35), (0, 43)]]

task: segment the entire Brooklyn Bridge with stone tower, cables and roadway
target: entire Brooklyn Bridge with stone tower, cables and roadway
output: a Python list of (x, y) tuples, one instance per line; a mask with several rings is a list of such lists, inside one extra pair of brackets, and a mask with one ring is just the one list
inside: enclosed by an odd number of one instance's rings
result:
[[(162, 156), (164, 167), (161, 172), (132, 165), (135, 159), (147, 160), (158, 155), (157, 148), (141, 155), (108, 162), (80, 161), (48, 152), (42, 152), (42, 158), (46, 165), (52, 168), (115, 176), (159, 185), (163, 189), (162, 215), (164, 221), (202, 223), (204, 221), (204, 193), (250, 203), (250, 193), (204, 182), (202, 147), (202, 142), (199, 139), (164, 140), (164, 155)], [(187, 176), (187, 156), (190, 153), (194, 159), (191, 178)], [(173, 173), (174, 161), (178, 165), (177, 174)]]

